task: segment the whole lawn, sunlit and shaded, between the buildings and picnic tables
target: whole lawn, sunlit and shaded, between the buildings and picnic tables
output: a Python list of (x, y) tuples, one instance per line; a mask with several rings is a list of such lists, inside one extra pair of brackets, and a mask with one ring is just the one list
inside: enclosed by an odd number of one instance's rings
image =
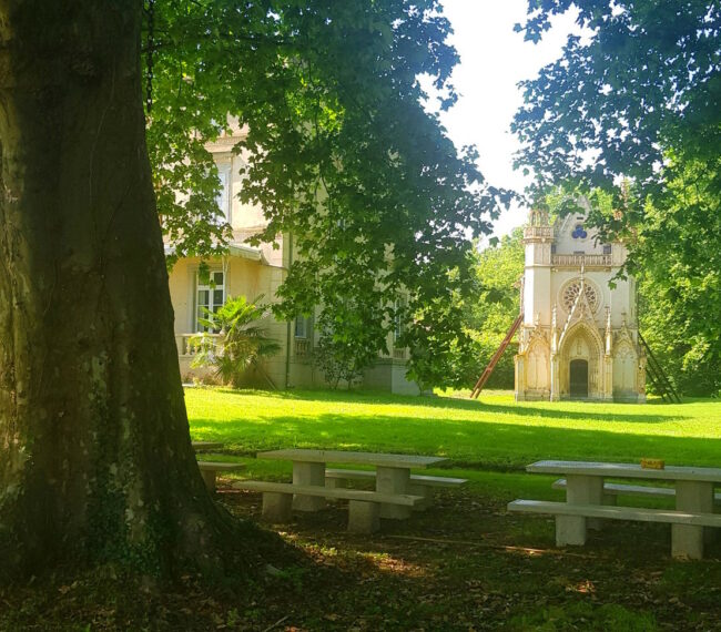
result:
[[(455, 467), (520, 469), (541, 458), (721, 466), (721, 402), (516, 402), (369, 393), (192, 388), (191, 432), (232, 452), (334, 448), (441, 455)], [(463, 395), (463, 394), (461, 394)]]

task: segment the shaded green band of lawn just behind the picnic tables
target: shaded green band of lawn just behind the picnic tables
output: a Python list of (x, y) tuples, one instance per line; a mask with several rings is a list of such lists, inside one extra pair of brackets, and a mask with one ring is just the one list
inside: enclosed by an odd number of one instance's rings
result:
[(195, 419), (206, 435), (234, 453), (276, 448), (337, 449), (438, 455), (453, 467), (518, 470), (540, 459), (636, 462), (664, 459), (669, 465), (718, 466), (718, 440), (608, 432), (540, 425), (433, 422), (414, 417), (321, 414), (313, 419), (274, 416), (266, 421)]

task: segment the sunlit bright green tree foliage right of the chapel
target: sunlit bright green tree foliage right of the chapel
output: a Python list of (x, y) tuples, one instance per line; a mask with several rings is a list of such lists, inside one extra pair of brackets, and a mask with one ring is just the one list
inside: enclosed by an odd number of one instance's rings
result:
[(687, 163), (670, 194), (648, 203), (634, 267), (641, 328), (663, 368), (687, 394), (721, 390), (721, 206), (712, 176)]

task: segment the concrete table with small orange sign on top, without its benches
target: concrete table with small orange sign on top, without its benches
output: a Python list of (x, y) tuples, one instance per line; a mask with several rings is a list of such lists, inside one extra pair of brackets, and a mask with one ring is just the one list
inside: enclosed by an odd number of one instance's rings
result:
[[(666, 466), (663, 469), (642, 468), (638, 463), (606, 463), (587, 461), (537, 461), (526, 468), (535, 473), (565, 475), (566, 502), (569, 504), (602, 504), (603, 479), (667, 480), (676, 487), (676, 509), (692, 514), (713, 513), (713, 487), (721, 485), (721, 468)], [(571, 531), (583, 538), (585, 521), (569, 518)], [(695, 524), (672, 524), (673, 549), (692, 558), (703, 551), (704, 528)]]

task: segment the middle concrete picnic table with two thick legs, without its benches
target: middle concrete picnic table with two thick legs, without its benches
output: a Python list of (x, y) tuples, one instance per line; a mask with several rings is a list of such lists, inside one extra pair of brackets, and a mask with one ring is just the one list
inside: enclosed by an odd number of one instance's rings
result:
[[(351, 452), (345, 450), (284, 449), (258, 452), (258, 459), (276, 459), (293, 462), (293, 485), (325, 485), (326, 463), (355, 463), (375, 466), (376, 491), (384, 493), (409, 493), (412, 469), (425, 469), (446, 462), (443, 457), (422, 457), (416, 455), (388, 455), (375, 452)], [(317, 511), (325, 500), (317, 497), (296, 496), (293, 508), (299, 511)], [(380, 517), (405, 519), (410, 509), (395, 504), (382, 504)]]

